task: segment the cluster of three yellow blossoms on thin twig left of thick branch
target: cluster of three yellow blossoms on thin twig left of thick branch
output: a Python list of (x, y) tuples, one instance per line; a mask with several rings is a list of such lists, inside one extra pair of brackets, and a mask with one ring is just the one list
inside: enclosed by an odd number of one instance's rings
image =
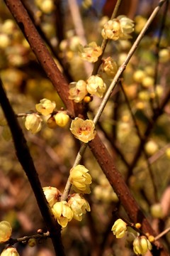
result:
[(66, 126), (69, 122), (69, 115), (65, 111), (59, 111), (57, 114), (54, 114), (55, 107), (55, 102), (51, 102), (45, 98), (40, 100), (40, 103), (35, 105), (35, 109), (38, 112), (26, 114), (26, 129), (33, 134), (40, 132), (40, 129), (42, 128), (42, 121), (45, 121), (47, 126), (52, 129), (57, 126)]

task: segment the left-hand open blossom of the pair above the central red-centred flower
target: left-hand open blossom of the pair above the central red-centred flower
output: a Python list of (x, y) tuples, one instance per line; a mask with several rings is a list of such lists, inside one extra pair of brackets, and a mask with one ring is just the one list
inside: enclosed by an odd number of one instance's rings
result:
[(79, 80), (78, 82), (71, 82), (69, 84), (69, 99), (74, 102), (81, 102), (87, 95), (86, 82)]

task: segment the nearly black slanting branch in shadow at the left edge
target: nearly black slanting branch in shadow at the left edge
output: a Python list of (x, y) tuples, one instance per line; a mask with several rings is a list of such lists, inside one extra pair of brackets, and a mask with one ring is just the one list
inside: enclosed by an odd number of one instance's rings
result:
[(28, 176), (28, 181), (30, 182), (30, 186), (32, 187), (33, 192), (35, 194), (35, 198), (40, 208), (42, 218), (45, 221), (47, 230), (50, 232), (50, 235), (52, 236), (52, 243), (55, 248), (56, 255), (64, 256), (64, 250), (63, 250), (62, 239), (61, 239), (61, 227), (60, 225), (57, 224), (57, 221), (55, 221), (55, 219), (53, 218), (52, 212), (50, 210), (50, 206), (46, 201), (45, 194), (42, 191), (42, 186), (38, 178), (38, 173), (33, 164), (33, 159), (30, 156), (30, 151), (28, 149), (26, 139), (23, 135), (20, 125), (18, 124), (16, 114), (13, 112), (10, 102), (6, 97), (6, 93), (4, 91), (4, 87), (1, 79), (0, 79), (0, 103), (4, 111), (6, 120), (8, 121), (8, 126), (11, 129), (13, 143), (16, 148), (16, 155), (18, 156), (18, 161), (20, 161), (21, 166), (23, 166), (23, 170), (26, 172), (26, 175)]

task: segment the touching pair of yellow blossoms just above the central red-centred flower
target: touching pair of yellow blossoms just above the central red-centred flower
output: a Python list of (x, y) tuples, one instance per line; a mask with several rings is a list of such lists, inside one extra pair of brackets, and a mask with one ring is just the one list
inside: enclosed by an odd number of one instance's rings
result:
[(106, 84), (98, 75), (91, 75), (86, 81), (79, 80), (69, 84), (69, 99), (74, 102), (81, 102), (88, 93), (103, 97), (106, 92)]

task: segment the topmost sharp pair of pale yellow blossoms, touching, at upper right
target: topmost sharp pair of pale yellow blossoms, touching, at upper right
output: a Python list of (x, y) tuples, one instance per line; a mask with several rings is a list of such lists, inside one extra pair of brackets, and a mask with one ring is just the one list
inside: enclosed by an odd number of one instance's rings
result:
[(107, 21), (101, 31), (101, 36), (105, 39), (111, 40), (126, 40), (131, 38), (129, 35), (134, 31), (134, 22), (123, 15), (118, 16), (118, 18), (113, 18), (113, 20)]

